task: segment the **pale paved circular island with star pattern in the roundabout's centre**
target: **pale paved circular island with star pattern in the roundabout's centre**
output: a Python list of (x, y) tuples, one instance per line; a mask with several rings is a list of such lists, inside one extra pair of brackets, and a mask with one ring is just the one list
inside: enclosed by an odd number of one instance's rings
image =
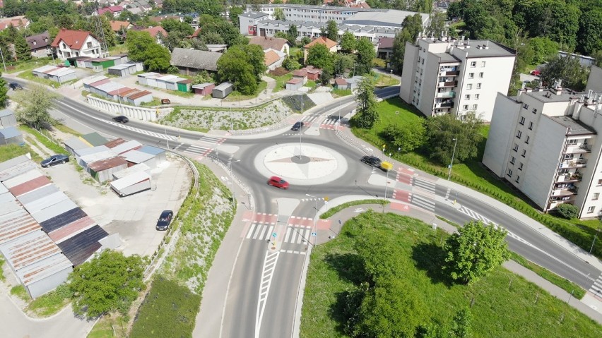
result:
[(266, 178), (280, 176), (301, 186), (328, 183), (347, 171), (343, 155), (313, 143), (273, 145), (257, 154), (254, 165)]

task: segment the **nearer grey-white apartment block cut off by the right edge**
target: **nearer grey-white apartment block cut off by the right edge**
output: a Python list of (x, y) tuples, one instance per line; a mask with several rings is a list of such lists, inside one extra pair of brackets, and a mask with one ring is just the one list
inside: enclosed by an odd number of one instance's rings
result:
[(602, 215), (602, 87), (497, 93), (483, 164), (541, 210), (561, 203)]

